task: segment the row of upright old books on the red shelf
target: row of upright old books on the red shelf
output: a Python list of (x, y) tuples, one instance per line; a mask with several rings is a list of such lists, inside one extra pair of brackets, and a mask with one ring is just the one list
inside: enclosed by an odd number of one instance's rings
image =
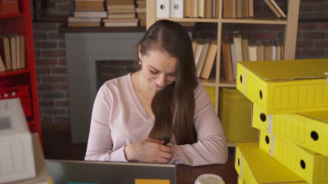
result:
[(25, 68), (25, 36), (0, 35), (0, 72)]

